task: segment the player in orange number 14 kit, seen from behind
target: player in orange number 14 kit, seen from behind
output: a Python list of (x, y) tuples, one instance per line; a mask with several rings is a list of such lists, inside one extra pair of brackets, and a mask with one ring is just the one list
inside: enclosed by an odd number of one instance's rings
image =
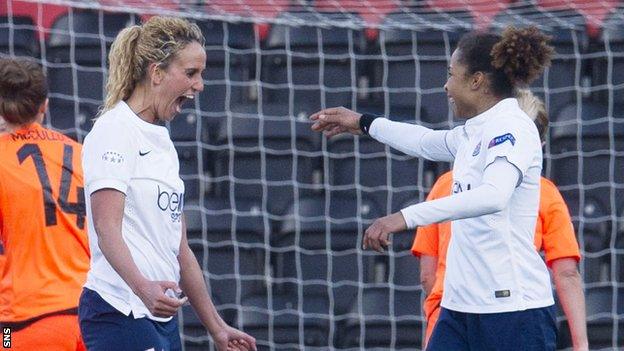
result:
[(41, 67), (0, 59), (0, 324), (10, 328), (14, 350), (84, 350), (77, 318), (89, 269), (82, 148), (41, 126), (47, 105)]

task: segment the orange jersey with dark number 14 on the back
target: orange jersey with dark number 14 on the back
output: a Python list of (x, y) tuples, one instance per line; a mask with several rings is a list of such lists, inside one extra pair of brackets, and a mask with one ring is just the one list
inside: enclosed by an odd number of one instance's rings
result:
[(0, 321), (78, 306), (89, 269), (81, 152), (38, 123), (0, 136)]

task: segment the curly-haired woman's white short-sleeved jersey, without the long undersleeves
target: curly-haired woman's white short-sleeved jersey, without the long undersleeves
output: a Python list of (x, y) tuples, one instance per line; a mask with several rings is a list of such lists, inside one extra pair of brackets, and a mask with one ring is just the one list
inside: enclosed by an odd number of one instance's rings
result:
[(453, 163), (452, 192), (478, 187), (483, 171), (498, 157), (516, 166), (521, 179), (502, 211), (451, 223), (442, 297), (442, 306), (450, 310), (510, 312), (554, 303), (548, 269), (533, 244), (541, 141), (516, 99), (466, 122)]

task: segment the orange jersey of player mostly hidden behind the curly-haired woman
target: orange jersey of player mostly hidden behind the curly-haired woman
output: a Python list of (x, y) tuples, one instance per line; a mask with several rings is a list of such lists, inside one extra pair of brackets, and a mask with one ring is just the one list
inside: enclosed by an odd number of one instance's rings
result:
[[(450, 196), (452, 184), (451, 172), (440, 176), (427, 196), (427, 201)], [(577, 261), (581, 259), (568, 207), (555, 184), (544, 177), (540, 182), (540, 205), (535, 227), (535, 248), (538, 251), (544, 250), (548, 266), (559, 258), (571, 257)], [(435, 282), (423, 306), (427, 320), (426, 340), (431, 336), (440, 313), (446, 271), (446, 252), (450, 240), (451, 223), (445, 222), (418, 228), (412, 245), (412, 254), (415, 256), (438, 257)]]

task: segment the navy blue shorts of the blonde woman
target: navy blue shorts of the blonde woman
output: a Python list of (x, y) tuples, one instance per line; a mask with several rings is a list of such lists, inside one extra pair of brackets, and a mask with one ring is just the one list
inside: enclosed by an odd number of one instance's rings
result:
[(93, 290), (84, 288), (78, 305), (82, 338), (89, 351), (182, 350), (178, 318), (156, 322), (117, 311)]

